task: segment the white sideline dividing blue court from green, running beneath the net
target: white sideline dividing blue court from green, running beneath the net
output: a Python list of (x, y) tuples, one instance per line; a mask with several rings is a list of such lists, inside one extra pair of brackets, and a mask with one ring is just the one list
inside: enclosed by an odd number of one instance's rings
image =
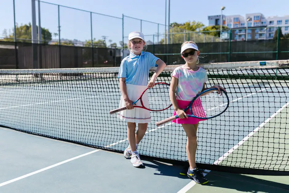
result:
[[(239, 146), (241, 146), (245, 141), (247, 141), (251, 136), (254, 135), (255, 132), (259, 131), (261, 127), (264, 127), (266, 123), (268, 123), (271, 119), (273, 119), (278, 113), (280, 113), (284, 108), (286, 108), (289, 105), (289, 102), (287, 102), (285, 105), (283, 105), (278, 111), (276, 111), (273, 115), (271, 115), (268, 119), (266, 119), (263, 123), (261, 123), (257, 128), (254, 129), (249, 135), (244, 137), (237, 145), (232, 147), (230, 150), (228, 150), (224, 155), (222, 155), (219, 159), (217, 159), (213, 164), (219, 164), (221, 163), (225, 158), (227, 158), (234, 150), (238, 149)], [(205, 170), (207, 173), (210, 172), (210, 170)], [(207, 175), (207, 173), (204, 174)], [(188, 183), (185, 187), (183, 187), (178, 193), (185, 193), (189, 189), (191, 189), (195, 185), (195, 181), (192, 181)]]

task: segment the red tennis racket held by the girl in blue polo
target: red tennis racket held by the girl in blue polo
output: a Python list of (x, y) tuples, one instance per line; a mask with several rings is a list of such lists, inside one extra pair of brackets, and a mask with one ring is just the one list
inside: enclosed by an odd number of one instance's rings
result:
[[(148, 111), (164, 111), (172, 106), (170, 97), (169, 97), (169, 88), (170, 85), (165, 82), (157, 82), (152, 88), (147, 87), (140, 95), (140, 97), (133, 102), (135, 105), (138, 101), (141, 102), (141, 106), (134, 106), (138, 108), (143, 108)], [(142, 100), (144, 97), (144, 101)], [(148, 98), (148, 103), (146, 102)], [(112, 111), (109, 111), (110, 114), (114, 114), (120, 111), (126, 110), (126, 107), (118, 108)]]

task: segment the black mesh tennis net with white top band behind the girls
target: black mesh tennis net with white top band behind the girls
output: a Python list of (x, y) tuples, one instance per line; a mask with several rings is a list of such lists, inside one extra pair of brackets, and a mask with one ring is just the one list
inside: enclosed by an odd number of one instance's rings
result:
[[(167, 66), (156, 82), (171, 80)], [(227, 111), (198, 127), (198, 167), (247, 174), (289, 174), (289, 60), (200, 64), (223, 86)], [(0, 70), (0, 125), (18, 131), (122, 152), (126, 123), (110, 115), (121, 92), (118, 67)], [(152, 72), (154, 69), (152, 69)], [(151, 73), (152, 74), (152, 73)], [(151, 112), (141, 157), (187, 163), (181, 125), (156, 122), (173, 107)], [(287, 128), (287, 129), (286, 129)]]

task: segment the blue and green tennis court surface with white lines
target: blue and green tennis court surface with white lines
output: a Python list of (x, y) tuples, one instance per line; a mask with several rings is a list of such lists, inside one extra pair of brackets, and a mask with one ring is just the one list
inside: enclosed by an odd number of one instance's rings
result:
[[(156, 127), (173, 107), (151, 112), (138, 148), (145, 169), (123, 158), (125, 123), (109, 114), (121, 96), (118, 67), (27, 69), (0, 70), (0, 192), (125, 192), (132, 183), (141, 192), (289, 192), (289, 60), (200, 66), (206, 87), (220, 84), (230, 99), (199, 125), (196, 161), (208, 185), (179, 175), (182, 127)], [(156, 82), (169, 83), (175, 67)]]

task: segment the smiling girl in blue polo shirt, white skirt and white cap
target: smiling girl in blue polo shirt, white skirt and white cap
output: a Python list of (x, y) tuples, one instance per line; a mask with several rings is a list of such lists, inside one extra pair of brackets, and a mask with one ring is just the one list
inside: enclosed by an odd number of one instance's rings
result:
[[(130, 162), (134, 167), (143, 166), (137, 146), (147, 130), (148, 123), (151, 122), (150, 112), (142, 108), (134, 108), (132, 103), (147, 87), (155, 86), (156, 77), (164, 70), (166, 64), (149, 52), (144, 52), (145, 40), (141, 32), (131, 32), (129, 34), (128, 48), (129, 56), (121, 61), (118, 73), (121, 99), (119, 107), (126, 107), (117, 117), (127, 122), (127, 134), (129, 146), (124, 151), (125, 158), (131, 157)], [(155, 73), (148, 82), (148, 73), (151, 67), (157, 66)], [(142, 97), (143, 102), (148, 104), (148, 96)], [(141, 106), (140, 101), (136, 103)], [(138, 130), (136, 131), (136, 123)]]

